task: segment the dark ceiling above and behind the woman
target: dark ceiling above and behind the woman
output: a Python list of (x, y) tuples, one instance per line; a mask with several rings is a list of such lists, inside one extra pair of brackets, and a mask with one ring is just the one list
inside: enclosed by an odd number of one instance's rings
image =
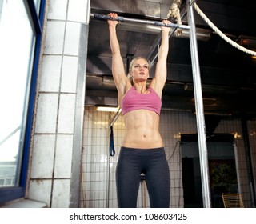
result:
[[(117, 12), (126, 18), (166, 18), (173, 0), (91, 0), (91, 13)], [(256, 1), (195, 1), (204, 14), (237, 42), (241, 36), (256, 38), (254, 12)], [(181, 6), (182, 23), (187, 25), (186, 1)], [(194, 10), (195, 26), (210, 32), (208, 40), (198, 39), (198, 57), (204, 110), (208, 114), (246, 114), (255, 118), (256, 58), (238, 50), (219, 37)], [(125, 23), (125, 22), (123, 22)], [(129, 24), (128, 24), (129, 25)], [(123, 60), (142, 56), (154, 61), (154, 43), (159, 33), (144, 24), (120, 24), (118, 39)], [(139, 31), (138, 31), (139, 30)], [(256, 41), (254, 40), (255, 44)], [(256, 46), (244, 46), (256, 51)], [(111, 52), (106, 21), (90, 18), (86, 73), (86, 105), (117, 106), (117, 91), (111, 75)], [(152, 63), (150, 74), (154, 74)], [(194, 111), (193, 74), (188, 38), (170, 37), (168, 77), (162, 95), (162, 108)]]

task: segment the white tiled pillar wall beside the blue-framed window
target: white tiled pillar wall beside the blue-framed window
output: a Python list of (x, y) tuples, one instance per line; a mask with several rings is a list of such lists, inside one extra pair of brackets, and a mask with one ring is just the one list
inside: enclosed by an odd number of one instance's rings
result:
[[(78, 78), (84, 76), (81, 68), (86, 67), (80, 52), (86, 49), (81, 37), (88, 25), (88, 4), (87, 0), (46, 1), (27, 198), (48, 207), (70, 207), (72, 178), (81, 168), (79, 164), (74, 172), (73, 160), (74, 145), (79, 142), (75, 134), (77, 95), (84, 95), (78, 85), (85, 85)], [(81, 104), (83, 111), (82, 97)]]

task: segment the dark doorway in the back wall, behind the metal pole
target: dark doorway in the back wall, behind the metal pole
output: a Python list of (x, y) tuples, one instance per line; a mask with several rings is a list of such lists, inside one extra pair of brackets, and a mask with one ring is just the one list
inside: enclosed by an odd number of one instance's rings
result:
[[(214, 134), (207, 138), (211, 207), (223, 207), (222, 193), (237, 193), (234, 136)], [(197, 134), (182, 134), (182, 182), (184, 207), (201, 208), (202, 181)]]

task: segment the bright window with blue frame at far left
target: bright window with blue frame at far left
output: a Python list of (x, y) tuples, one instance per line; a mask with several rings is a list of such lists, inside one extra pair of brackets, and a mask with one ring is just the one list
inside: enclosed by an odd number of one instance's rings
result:
[(0, 204), (25, 194), (44, 6), (0, 2)]

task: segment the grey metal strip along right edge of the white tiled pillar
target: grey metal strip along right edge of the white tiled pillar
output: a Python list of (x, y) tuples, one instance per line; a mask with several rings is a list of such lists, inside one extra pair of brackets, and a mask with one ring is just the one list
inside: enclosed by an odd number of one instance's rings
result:
[(72, 168), (70, 178), (70, 208), (78, 208), (81, 190), (81, 165), (82, 165), (82, 126), (85, 110), (86, 97), (86, 62), (87, 44), (90, 20), (90, 0), (86, 1), (86, 22), (80, 24), (78, 74), (74, 113), (74, 138), (72, 153)]

